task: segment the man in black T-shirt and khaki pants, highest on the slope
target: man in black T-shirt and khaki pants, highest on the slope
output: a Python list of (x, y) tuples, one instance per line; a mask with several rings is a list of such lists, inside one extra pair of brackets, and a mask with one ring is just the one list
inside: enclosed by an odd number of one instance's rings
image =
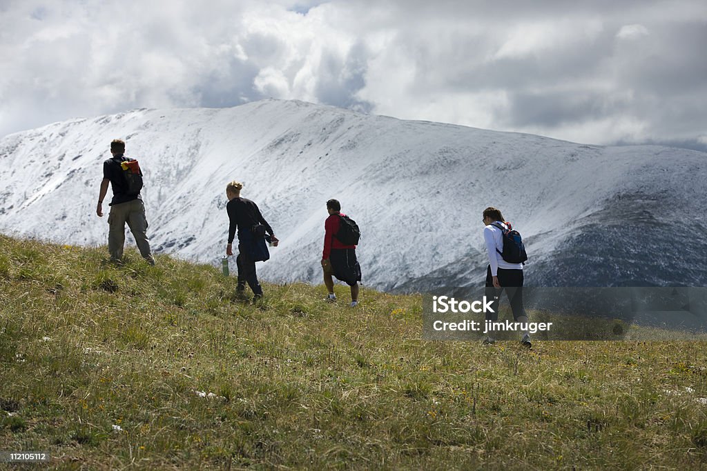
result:
[(141, 256), (147, 263), (154, 265), (155, 258), (150, 251), (150, 239), (146, 234), (148, 225), (145, 204), (140, 196), (142, 171), (136, 160), (124, 156), (124, 141), (113, 140), (110, 143), (110, 153), (113, 156), (103, 162), (103, 181), (100, 183), (98, 206), (95, 208), (98, 217), (103, 217), (103, 198), (105, 198), (110, 182), (113, 191), (113, 198), (109, 203), (110, 213), (108, 214), (110, 260), (115, 263), (122, 262), (125, 223), (127, 222)]

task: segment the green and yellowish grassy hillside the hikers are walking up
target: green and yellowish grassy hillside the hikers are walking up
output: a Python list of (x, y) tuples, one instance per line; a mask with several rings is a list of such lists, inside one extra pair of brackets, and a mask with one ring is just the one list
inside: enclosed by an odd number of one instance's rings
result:
[[(0, 237), (0, 450), (59, 469), (707, 467), (702, 342), (426, 342), (421, 297)], [(316, 261), (315, 261), (316, 262)]]

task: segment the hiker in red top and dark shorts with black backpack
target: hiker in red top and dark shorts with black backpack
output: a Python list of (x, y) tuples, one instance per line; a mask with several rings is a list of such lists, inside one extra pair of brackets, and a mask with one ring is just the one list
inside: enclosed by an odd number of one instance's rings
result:
[[(358, 282), (361, 281), (361, 266), (356, 260), (356, 244), (351, 242), (358, 243), (358, 236), (354, 237), (352, 241), (344, 240), (342, 242), (339, 239), (342, 237), (339, 229), (346, 224), (344, 218), (348, 219), (344, 213), (341, 213), (339, 201), (334, 199), (327, 201), (327, 212), (329, 217), (324, 223), (324, 252), (322, 253), (324, 284), (329, 291), (327, 301), (337, 300), (337, 295), (334, 294), (334, 279), (332, 278), (334, 275), (351, 287), (351, 304), (349, 306), (355, 307), (358, 304)], [(358, 232), (358, 226), (356, 226), (355, 232)]]

